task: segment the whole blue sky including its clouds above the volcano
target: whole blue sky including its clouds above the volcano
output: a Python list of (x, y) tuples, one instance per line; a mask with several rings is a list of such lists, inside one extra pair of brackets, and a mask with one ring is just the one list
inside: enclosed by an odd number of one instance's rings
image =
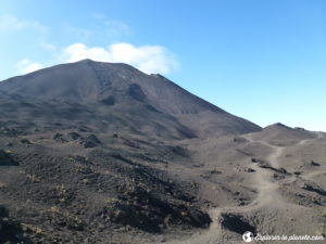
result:
[(0, 0), (0, 80), (126, 62), (260, 126), (326, 131), (325, 13), (323, 0)]

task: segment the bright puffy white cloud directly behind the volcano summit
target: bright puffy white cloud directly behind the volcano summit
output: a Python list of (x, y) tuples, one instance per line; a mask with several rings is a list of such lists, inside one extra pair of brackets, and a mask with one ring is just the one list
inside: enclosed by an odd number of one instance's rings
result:
[(130, 43), (114, 43), (104, 49), (101, 47), (89, 48), (84, 43), (74, 43), (64, 50), (64, 62), (76, 62), (85, 59), (126, 63), (147, 74), (167, 74), (178, 65), (174, 54), (161, 46), (135, 47)]

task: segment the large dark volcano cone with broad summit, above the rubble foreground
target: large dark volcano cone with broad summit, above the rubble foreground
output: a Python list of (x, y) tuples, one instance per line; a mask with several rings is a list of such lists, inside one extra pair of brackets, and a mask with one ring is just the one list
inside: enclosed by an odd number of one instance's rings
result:
[(4, 80), (0, 92), (1, 117), (20, 117), (24, 126), (75, 121), (166, 139), (260, 130), (161, 75), (126, 64), (84, 60), (58, 65)]

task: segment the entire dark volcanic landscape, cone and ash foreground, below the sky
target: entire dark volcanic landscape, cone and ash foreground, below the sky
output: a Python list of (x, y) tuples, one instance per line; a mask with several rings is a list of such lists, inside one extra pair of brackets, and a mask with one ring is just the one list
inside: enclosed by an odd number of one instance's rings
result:
[(0, 243), (323, 234), (325, 145), (126, 64), (14, 77), (0, 82)]

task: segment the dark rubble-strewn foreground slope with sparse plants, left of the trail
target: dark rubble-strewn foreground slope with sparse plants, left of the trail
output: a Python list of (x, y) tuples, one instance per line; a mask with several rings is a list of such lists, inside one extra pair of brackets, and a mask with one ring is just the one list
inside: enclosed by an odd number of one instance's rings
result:
[(0, 201), (35, 243), (110, 243), (116, 231), (156, 234), (211, 223), (193, 185), (159, 169), (185, 157), (178, 146), (117, 133), (7, 130)]

